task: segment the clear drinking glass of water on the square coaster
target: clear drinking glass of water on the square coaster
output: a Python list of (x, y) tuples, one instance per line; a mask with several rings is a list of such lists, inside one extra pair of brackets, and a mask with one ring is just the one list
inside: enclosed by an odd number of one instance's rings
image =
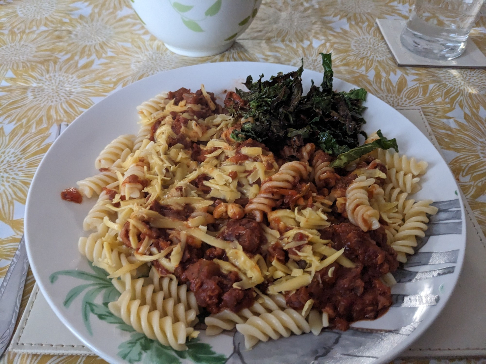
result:
[(400, 40), (423, 57), (449, 60), (466, 48), (485, 0), (417, 0)]

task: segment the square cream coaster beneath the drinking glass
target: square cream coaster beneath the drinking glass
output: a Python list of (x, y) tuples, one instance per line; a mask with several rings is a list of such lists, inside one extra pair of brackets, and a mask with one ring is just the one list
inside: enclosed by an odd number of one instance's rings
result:
[(400, 42), (400, 33), (405, 27), (406, 21), (376, 19), (376, 24), (380, 28), (398, 66), (486, 68), (485, 55), (471, 40), (469, 40), (464, 53), (459, 57), (450, 61), (439, 61), (419, 56), (403, 47)]

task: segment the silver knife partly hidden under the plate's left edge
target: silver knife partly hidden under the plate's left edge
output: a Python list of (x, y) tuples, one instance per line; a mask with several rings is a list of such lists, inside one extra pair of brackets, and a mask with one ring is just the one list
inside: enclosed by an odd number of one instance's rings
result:
[[(67, 123), (58, 125), (55, 139), (68, 125)], [(14, 333), (28, 270), (29, 260), (25, 249), (25, 239), (22, 236), (14, 258), (8, 267), (7, 274), (0, 285), (0, 358), (7, 349), (10, 338)]]

